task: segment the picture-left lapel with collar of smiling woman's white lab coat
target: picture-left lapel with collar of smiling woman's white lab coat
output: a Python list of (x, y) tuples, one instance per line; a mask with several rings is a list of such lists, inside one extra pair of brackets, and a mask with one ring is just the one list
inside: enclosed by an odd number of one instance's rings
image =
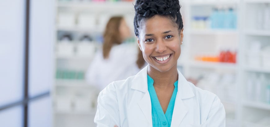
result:
[(139, 100), (138, 105), (146, 117), (149, 125), (152, 125), (151, 99), (147, 86), (147, 66), (138, 72), (138, 74), (134, 77), (131, 88), (133, 90), (139, 90), (142, 92), (142, 94), (144, 94), (142, 99)]

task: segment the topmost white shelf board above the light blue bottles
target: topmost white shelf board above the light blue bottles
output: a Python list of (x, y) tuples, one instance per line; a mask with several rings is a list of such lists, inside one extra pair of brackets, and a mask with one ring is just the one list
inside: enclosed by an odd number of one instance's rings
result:
[(209, 0), (209, 1), (204, 1), (204, 0), (194, 0), (191, 1), (190, 4), (191, 6), (203, 6), (203, 5), (235, 5), (238, 4), (238, 0)]

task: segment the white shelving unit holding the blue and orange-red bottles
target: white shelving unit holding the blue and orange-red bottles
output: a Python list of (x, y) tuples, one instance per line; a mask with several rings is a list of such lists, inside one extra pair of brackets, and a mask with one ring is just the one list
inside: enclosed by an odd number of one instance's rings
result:
[[(219, 96), (226, 110), (226, 126), (241, 126), (241, 105), (237, 100), (239, 83), (239, 55), (236, 63), (206, 62), (197, 61), (197, 55), (218, 55), (220, 50), (239, 50), (240, 29), (236, 28), (211, 28), (209, 21), (205, 21), (202, 26), (194, 26), (195, 16), (211, 15), (214, 7), (232, 7), (239, 22), (240, 1), (202, 1), (202, 0), (182, 0), (182, 17), (184, 22), (184, 41), (182, 52), (178, 61), (184, 76), (189, 79), (197, 79), (198, 87), (214, 92)], [(196, 23), (196, 24), (200, 24)], [(225, 49), (223, 49), (225, 47)], [(214, 81), (209, 80), (210, 78)], [(233, 79), (232, 79), (233, 78)], [(218, 80), (219, 79), (219, 80)], [(225, 79), (231, 81), (224, 81)], [(224, 82), (224, 83), (223, 83)]]

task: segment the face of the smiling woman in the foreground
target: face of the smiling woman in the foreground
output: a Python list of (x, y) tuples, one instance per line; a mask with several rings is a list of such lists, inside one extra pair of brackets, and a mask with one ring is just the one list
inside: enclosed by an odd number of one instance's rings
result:
[(155, 15), (140, 23), (138, 44), (143, 58), (160, 72), (177, 67), (181, 53), (183, 30), (167, 17)]

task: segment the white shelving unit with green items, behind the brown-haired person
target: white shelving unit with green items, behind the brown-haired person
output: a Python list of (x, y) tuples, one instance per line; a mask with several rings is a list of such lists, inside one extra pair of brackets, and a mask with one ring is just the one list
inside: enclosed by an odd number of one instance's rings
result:
[[(132, 2), (56, 0), (53, 127), (95, 126), (99, 90), (85, 81), (85, 73), (101, 47), (106, 22), (113, 15), (124, 15), (133, 28)], [(81, 40), (84, 35), (91, 39)]]

